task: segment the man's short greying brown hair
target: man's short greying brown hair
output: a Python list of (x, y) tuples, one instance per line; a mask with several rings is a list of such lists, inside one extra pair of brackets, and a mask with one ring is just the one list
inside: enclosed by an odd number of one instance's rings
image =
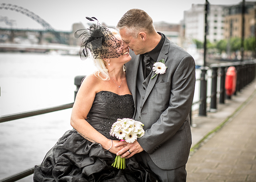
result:
[(126, 29), (128, 35), (134, 38), (138, 37), (139, 32), (143, 31), (148, 34), (155, 32), (152, 18), (142, 9), (130, 9), (118, 21), (119, 30)]

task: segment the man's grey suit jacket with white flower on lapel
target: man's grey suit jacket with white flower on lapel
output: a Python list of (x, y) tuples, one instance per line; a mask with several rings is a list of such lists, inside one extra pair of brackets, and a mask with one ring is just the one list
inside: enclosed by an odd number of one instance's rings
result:
[(155, 75), (151, 71), (138, 86), (146, 89), (142, 99), (138, 99), (136, 80), (142, 76), (138, 73), (141, 55), (132, 51), (130, 55), (132, 60), (126, 63), (126, 72), (136, 105), (133, 118), (142, 122), (145, 130), (138, 142), (161, 169), (181, 167), (187, 163), (192, 143), (189, 111), (195, 90), (195, 61), (166, 38), (157, 59), (165, 60), (166, 72), (151, 79)]

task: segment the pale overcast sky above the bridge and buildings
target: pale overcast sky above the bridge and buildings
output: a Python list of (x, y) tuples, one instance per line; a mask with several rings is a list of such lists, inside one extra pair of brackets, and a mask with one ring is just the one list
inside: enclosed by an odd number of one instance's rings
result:
[[(210, 4), (230, 5), (240, 3), (242, 0), (208, 1)], [(73, 23), (87, 24), (89, 21), (86, 16), (94, 16), (107, 26), (116, 26), (123, 14), (132, 8), (143, 9), (154, 22), (180, 23), (184, 11), (190, 9), (192, 4), (204, 4), (205, 0), (0, 0), (0, 4), (2, 3), (18, 5), (34, 12), (56, 30), (71, 31)], [(15, 20), (13, 28), (42, 29), (39, 23), (26, 15), (0, 9), (0, 19), (5, 16), (9, 20)], [(0, 27), (10, 28), (10, 25), (0, 21)]]

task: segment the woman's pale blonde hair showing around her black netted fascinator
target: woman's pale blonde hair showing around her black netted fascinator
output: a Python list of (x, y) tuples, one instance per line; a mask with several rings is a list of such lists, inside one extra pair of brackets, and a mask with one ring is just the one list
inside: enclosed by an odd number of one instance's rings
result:
[[(114, 28), (108, 28), (108, 29), (113, 35), (119, 35), (116, 29)], [(95, 71), (93, 74), (101, 80), (104, 80), (104, 81), (109, 80), (110, 76), (108, 73), (108, 69), (106, 68), (106, 61), (104, 61), (103, 59), (94, 59), (91, 53), (89, 53), (89, 57), (91, 58), (91, 60), (93, 60), (93, 63), (97, 68), (97, 71)], [(124, 71), (125, 71), (125, 66), (124, 66)]]

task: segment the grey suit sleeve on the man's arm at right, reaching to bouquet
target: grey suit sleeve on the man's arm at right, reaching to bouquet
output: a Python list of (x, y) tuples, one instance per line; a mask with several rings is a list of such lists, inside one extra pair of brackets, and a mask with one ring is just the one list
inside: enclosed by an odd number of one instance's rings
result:
[(185, 56), (176, 70), (170, 68), (168, 72), (167, 68), (165, 74), (172, 75), (171, 90), (168, 91), (169, 105), (157, 122), (145, 131), (145, 135), (138, 138), (139, 144), (149, 154), (159, 145), (172, 139), (189, 115), (193, 102), (196, 79), (195, 61), (192, 56)]

